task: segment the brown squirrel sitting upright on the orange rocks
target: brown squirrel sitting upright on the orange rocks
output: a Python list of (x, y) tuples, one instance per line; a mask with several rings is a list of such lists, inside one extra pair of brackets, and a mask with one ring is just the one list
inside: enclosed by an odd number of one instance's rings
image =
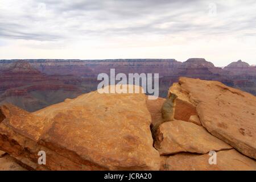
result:
[(158, 130), (158, 127), (162, 123), (174, 120), (176, 99), (177, 99), (176, 94), (171, 93), (171, 92), (168, 93), (166, 101), (164, 101), (163, 106), (162, 106), (162, 118), (163, 118), (163, 120), (156, 123), (151, 129), (151, 133), (153, 135), (153, 138), (155, 138), (156, 130)]

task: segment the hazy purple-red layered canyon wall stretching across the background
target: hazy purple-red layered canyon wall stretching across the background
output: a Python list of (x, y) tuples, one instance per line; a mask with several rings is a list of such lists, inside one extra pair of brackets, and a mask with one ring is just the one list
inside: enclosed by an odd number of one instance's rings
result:
[(217, 80), (256, 95), (256, 67), (240, 61), (224, 69), (205, 59), (0, 60), (0, 104), (27, 111), (56, 104), (97, 89), (99, 73), (159, 73), (159, 96), (180, 76)]

